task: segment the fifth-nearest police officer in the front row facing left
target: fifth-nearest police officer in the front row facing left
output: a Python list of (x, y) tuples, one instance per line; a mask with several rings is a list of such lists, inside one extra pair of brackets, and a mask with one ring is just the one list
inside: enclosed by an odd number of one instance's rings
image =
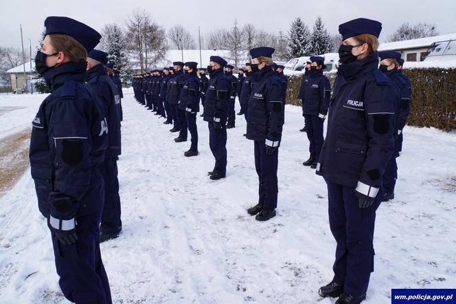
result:
[[(187, 122), (184, 121), (185, 111), (183, 113), (180, 113), (178, 107), (181, 88), (183, 87), (183, 80), (185, 78), (183, 74), (183, 62), (175, 61), (172, 64), (174, 65), (174, 77), (172, 77), (168, 83), (170, 90), (168, 92), (168, 103), (170, 104), (170, 109), (173, 114), (174, 127), (170, 129), (170, 131), (179, 132), (182, 130), (182, 134), (179, 134), (179, 136), (175, 138), (174, 141), (185, 142), (187, 141)], [(185, 135), (185, 138), (181, 137), (181, 135)]]

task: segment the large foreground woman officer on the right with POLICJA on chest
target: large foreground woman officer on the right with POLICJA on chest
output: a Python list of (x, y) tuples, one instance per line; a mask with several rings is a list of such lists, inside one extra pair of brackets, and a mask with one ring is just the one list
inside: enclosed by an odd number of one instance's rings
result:
[(339, 25), (343, 43), (317, 174), (328, 185), (329, 222), (337, 242), (334, 278), (319, 289), (336, 303), (361, 303), (374, 271), (374, 225), (382, 175), (394, 152), (398, 98), (378, 70), (381, 23), (354, 19)]

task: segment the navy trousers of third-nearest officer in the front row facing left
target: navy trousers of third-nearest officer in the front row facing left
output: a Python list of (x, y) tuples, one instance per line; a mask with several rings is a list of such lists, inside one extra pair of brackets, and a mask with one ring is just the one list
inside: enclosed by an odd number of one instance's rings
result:
[(225, 175), (227, 173), (227, 129), (222, 120), (221, 130), (214, 129), (214, 122), (207, 122), (209, 126), (209, 148), (216, 159), (214, 171)]

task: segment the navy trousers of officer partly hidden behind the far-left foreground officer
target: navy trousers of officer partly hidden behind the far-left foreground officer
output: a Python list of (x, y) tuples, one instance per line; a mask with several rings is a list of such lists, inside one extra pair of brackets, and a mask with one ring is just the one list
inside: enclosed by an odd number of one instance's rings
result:
[(105, 158), (100, 165), (100, 173), (104, 180), (104, 205), (100, 230), (111, 235), (122, 230), (117, 158)]

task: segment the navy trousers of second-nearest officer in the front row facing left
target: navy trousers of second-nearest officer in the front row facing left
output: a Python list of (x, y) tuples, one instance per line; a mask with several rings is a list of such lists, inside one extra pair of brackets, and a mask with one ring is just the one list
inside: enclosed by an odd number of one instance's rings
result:
[(265, 210), (277, 208), (277, 165), (279, 150), (273, 155), (266, 154), (264, 140), (255, 140), (255, 169), (258, 174), (258, 204)]

